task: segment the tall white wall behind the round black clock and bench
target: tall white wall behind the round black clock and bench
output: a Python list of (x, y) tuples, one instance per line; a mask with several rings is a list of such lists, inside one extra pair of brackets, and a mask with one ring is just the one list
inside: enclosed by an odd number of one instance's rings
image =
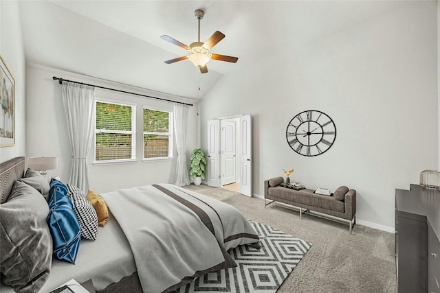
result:
[[(249, 113), (254, 194), (294, 167), (291, 181), (311, 189), (356, 189), (358, 223), (393, 231), (395, 188), (419, 183), (439, 162), (436, 6), (405, 3), (225, 75), (201, 102), (202, 147), (208, 119)], [(296, 154), (285, 137), (290, 119), (309, 109), (327, 113), (338, 132), (315, 157)]]

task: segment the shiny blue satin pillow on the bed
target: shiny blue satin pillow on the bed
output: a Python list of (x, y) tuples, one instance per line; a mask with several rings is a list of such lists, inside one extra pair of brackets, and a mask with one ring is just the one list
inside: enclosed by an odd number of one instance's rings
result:
[(67, 197), (67, 192), (67, 187), (60, 180), (52, 178), (47, 224), (54, 242), (54, 256), (57, 259), (75, 263), (81, 241), (80, 224), (72, 202)]

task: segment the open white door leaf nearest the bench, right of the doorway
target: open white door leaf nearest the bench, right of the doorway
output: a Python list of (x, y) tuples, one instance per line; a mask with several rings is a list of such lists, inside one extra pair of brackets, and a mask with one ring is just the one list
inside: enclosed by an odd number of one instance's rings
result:
[(250, 115), (240, 117), (240, 193), (252, 196), (252, 124)]

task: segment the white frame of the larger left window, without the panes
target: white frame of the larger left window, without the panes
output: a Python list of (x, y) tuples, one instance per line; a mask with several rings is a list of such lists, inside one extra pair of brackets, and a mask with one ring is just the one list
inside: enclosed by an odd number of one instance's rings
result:
[[(96, 106), (98, 103), (116, 104), (120, 106), (131, 107), (131, 130), (101, 130), (96, 128)], [(95, 99), (95, 133), (94, 133), (94, 165), (111, 165), (120, 163), (135, 163), (136, 162), (136, 103), (120, 101), (115, 99), (106, 99), (103, 97), (96, 97)], [(131, 134), (131, 158), (130, 159), (111, 159), (111, 160), (96, 160), (96, 135), (99, 133), (114, 133), (114, 134)]]

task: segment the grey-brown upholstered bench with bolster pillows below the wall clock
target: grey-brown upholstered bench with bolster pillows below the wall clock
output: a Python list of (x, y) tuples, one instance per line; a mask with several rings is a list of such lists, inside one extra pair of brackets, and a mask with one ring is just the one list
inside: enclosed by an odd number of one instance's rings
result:
[[(350, 233), (356, 222), (356, 191), (348, 187), (341, 186), (331, 195), (322, 196), (315, 194), (312, 189), (289, 189), (282, 187), (283, 177), (276, 177), (264, 182), (265, 207), (272, 202), (283, 202), (299, 208), (300, 218), (303, 213), (316, 211), (324, 215), (332, 215), (347, 221), (339, 221), (329, 217), (322, 217), (328, 220), (336, 220), (344, 224), (349, 224)], [(267, 203), (267, 200), (271, 200)], [(318, 215), (317, 213), (310, 213)]]

